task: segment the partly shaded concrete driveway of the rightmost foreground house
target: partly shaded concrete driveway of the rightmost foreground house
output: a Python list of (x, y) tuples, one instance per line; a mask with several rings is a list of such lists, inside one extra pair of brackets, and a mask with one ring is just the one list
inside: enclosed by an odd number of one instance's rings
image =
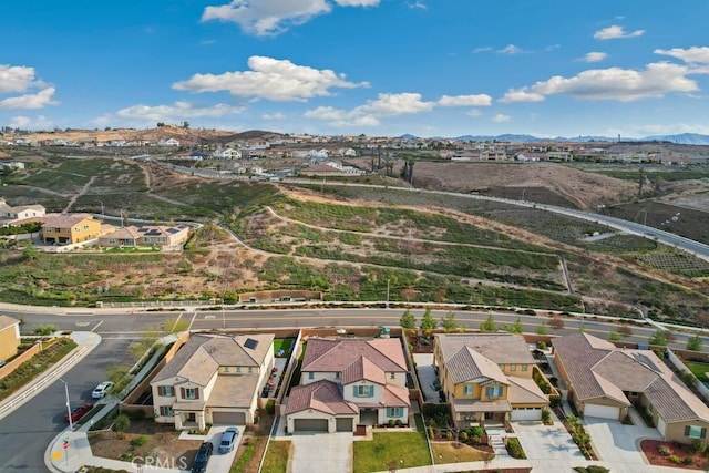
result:
[(584, 426), (599, 460), (635, 464), (638, 469), (647, 466), (645, 455), (640, 452), (640, 440), (661, 440), (656, 429), (624, 425), (610, 419), (586, 418)]

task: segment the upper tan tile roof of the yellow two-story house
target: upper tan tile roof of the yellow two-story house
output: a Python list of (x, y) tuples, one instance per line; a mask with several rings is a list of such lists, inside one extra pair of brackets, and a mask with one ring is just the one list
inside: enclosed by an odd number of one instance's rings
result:
[(470, 347), (497, 364), (534, 364), (527, 342), (521, 335), (513, 333), (443, 333), (435, 336), (443, 358), (448, 359), (463, 347)]

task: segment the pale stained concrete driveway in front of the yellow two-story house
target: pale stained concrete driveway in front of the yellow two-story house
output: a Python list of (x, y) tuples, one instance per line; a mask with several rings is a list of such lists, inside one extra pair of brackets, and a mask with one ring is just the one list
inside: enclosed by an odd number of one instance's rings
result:
[[(554, 425), (540, 421), (515, 421), (512, 428), (528, 460), (585, 460), (564, 425), (552, 412)], [(514, 435), (511, 435), (514, 436)]]

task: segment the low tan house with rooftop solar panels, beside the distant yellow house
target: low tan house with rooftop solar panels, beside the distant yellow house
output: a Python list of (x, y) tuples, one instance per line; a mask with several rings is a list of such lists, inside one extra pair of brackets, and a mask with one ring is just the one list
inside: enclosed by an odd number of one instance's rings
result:
[(186, 225), (143, 225), (119, 228), (99, 238), (99, 245), (104, 248), (155, 246), (168, 247), (184, 244), (189, 238), (189, 227)]

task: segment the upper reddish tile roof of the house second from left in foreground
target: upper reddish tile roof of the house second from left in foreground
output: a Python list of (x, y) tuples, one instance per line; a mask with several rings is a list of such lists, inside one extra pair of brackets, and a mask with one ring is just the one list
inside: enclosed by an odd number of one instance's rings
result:
[[(348, 367), (362, 357), (373, 367), (387, 373), (407, 371), (403, 348), (401, 341), (395, 338), (371, 340), (310, 338), (302, 360), (302, 371), (343, 373)], [(368, 368), (366, 372), (373, 373), (374, 371)]]

